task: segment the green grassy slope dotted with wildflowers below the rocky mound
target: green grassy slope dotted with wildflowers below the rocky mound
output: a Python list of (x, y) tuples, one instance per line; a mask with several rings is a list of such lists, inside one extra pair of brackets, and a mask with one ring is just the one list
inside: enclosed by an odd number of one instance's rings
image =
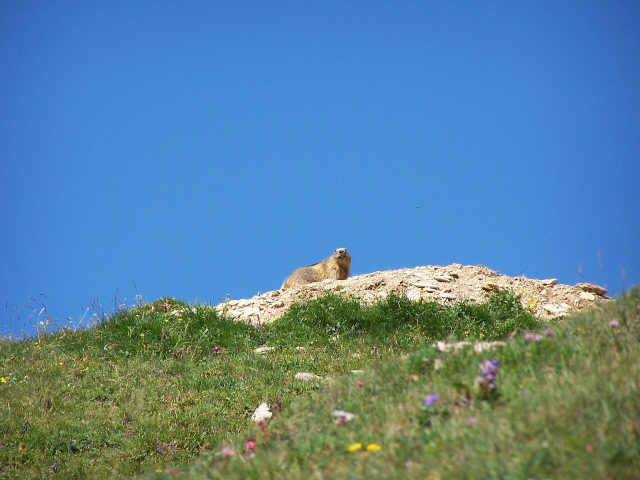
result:
[[(640, 289), (550, 325), (508, 293), (453, 306), (328, 296), (254, 328), (160, 300), (0, 343), (0, 478), (634, 478), (639, 312)], [(433, 347), (461, 339), (507, 345)], [(490, 358), (487, 396), (473, 385)], [(427, 409), (430, 393), (441, 401)], [(258, 427), (263, 401), (279, 410)], [(338, 425), (334, 409), (356, 417)]]

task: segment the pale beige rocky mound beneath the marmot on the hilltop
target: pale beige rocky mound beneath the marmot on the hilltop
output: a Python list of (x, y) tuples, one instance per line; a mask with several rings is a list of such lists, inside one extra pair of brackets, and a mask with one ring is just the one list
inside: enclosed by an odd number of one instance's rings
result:
[(583, 310), (597, 301), (608, 301), (607, 290), (589, 283), (576, 286), (559, 284), (557, 279), (536, 280), (525, 276), (509, 277), (483, 265), (424, 266), (386, 270), (350, 277), (324, 280), (274, 290), (244, 300), (228, 299), (216, 305), (217, 311), (251, 324), (274, 321), (296, 303), (329, 293), (348, 295), (362, 303), (384, 299), (395, 292), (413, 301), (481, 303), (495, 291), (520, 296), (523, 306), (539, 318), (561, 318)]

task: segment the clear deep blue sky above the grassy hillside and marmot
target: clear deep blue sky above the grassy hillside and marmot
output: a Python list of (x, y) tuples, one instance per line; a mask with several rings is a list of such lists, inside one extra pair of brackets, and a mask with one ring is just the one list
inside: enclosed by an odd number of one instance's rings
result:
[(0, 333), (247, 298), (343, 246), (619, 294), (640, 2), (5, 0), (0, 178)]

